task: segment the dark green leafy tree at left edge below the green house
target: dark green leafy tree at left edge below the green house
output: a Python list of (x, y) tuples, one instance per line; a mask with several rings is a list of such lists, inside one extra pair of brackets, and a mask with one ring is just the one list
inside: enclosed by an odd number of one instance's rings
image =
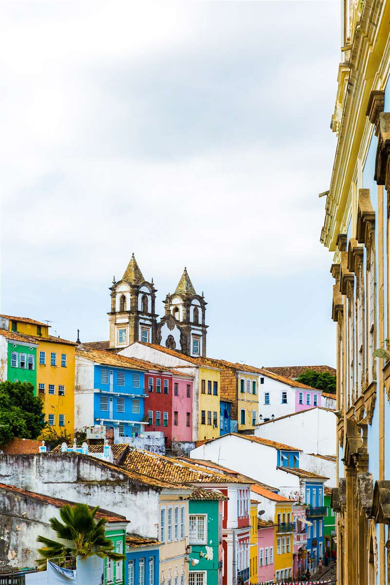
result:
[(29, 382), (0, 382), (0, 444), (36, 439), (44, 429), (43, 402)]

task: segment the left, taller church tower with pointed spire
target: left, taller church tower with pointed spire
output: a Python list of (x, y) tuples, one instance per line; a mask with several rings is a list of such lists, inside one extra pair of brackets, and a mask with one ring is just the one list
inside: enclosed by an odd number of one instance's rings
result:
[(118, 282), (112, 281), (110, 348), (126, 347), (134, 341), (156, 343), (156, 288), (153, 278), (147, 282), (141, 273), (134, 253)]

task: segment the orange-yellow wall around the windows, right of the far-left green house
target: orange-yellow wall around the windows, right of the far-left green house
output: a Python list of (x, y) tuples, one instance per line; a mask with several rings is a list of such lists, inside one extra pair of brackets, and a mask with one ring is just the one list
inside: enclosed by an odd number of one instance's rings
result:
[[(39, 363), (40, 353), (46, 353), (46, 365)], [(56, 366), (50, 365), (50, 354), (56, 353)], [(61, 366), (61, 354), (67, 356), (66, 367)], [(73, 435), (74, 433), (74, 370), (75, 346), (65, 343), (53, 343), (39, 340), (37, 347), (37, 395), (44, 404), (44, 418), (49, 421), (49, 414), (54, 414), (54, 429)], [(39, 393), (39, 384), (44, 384), (44, 394)], [(54, 394), (49, 394), (49, 384), (54, 384)], [(58, 386), (65, 386), (65, 395), (58, 395)], [(65, 415), (65, 426), (59, 426), (59, 415)]]

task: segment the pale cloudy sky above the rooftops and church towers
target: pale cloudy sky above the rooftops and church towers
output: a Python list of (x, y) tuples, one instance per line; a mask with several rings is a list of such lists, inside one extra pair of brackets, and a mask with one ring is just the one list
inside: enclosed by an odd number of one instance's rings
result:
[(134, 252), (157, 312), (184, 266), (208, 355), (335, 364), (320, 244), (339, 2), (5, 0), (1, 308), (108, 339)]

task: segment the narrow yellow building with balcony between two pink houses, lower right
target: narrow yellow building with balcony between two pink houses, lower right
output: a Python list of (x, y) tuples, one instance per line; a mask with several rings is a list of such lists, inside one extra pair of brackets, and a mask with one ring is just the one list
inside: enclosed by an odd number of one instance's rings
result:
[(292, 578), (292, 550), (294, 546), (294, 524), (292, 500), (282, 498), (275, 502), (275, 579)]

